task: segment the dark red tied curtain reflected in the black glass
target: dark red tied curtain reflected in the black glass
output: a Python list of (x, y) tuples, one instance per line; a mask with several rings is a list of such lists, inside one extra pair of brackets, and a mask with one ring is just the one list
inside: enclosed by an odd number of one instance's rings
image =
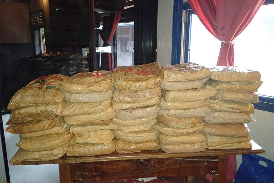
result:
[[(100, 32), (100, 36), (104, 41), (103, 46), (109, 46), (118, 23), (120, 22), (122, 11), (124, 9), (123, 5), (118, 5), (115, 15), (103, 17), (103, 30)], [(110, 70), (113, 71), (114, 63), (111, 53), (101, 53), (101, 70)]]

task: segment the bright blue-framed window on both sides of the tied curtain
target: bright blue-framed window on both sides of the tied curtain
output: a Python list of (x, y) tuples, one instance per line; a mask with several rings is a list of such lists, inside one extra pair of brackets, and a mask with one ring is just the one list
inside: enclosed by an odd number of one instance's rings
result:
[[(268, 5), (266, 5), (267, 3)], [(195, 62), (206, 67), (216, 66), (221, 41), (203, 26), (193, 10), (190, 9), (191, 7), (186, 5), (188, 3), (182, 4), (185, 4), (182, 7), (187, 7), (187, 10), (184, 13), (186, 16), (183, 20), (184, 26), (182, 26), (185, 29), (181, 40), (184, 42), (184, 56), (181, 57), (181, 63)], [(256, 92), (260, 102), (254, 105), (255, 108), (270, 112), (274, 112), (273, 32), (274, 4), (269, 4), (269, 1), (266, 0), (248, 27), (234, 41), (234, 65), (258, 70), (262, 75), (263, 84)], [(177, 63), (180, 62), (177, 61)]]

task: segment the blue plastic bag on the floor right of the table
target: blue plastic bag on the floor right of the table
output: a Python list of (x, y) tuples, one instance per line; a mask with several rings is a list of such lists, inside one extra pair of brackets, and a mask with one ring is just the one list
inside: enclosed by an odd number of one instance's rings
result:
[(242, 155), (234, 183), (274, 183), (274, 162), (256, 154)]

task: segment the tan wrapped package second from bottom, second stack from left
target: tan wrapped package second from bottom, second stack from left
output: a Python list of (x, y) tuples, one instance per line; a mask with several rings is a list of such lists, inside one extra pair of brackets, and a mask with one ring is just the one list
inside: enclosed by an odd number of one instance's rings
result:
[(109, 144), (114, 138), (112, 130), (96, 130), (74, 134), (70, 143), (103, 143)]

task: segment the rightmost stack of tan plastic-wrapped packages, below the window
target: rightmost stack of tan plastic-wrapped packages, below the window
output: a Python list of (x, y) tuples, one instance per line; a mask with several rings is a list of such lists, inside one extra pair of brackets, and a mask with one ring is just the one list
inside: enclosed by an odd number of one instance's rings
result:
[(204, 118), (202, 133), (209, 149), (251, 148), (251, 136), (246, 123), (255, 121), (251, 103), (258, 103), (261, 74), (236, 66), (212, 68), (209, 84), (216, 88), (208, 103), (210, 114)]

